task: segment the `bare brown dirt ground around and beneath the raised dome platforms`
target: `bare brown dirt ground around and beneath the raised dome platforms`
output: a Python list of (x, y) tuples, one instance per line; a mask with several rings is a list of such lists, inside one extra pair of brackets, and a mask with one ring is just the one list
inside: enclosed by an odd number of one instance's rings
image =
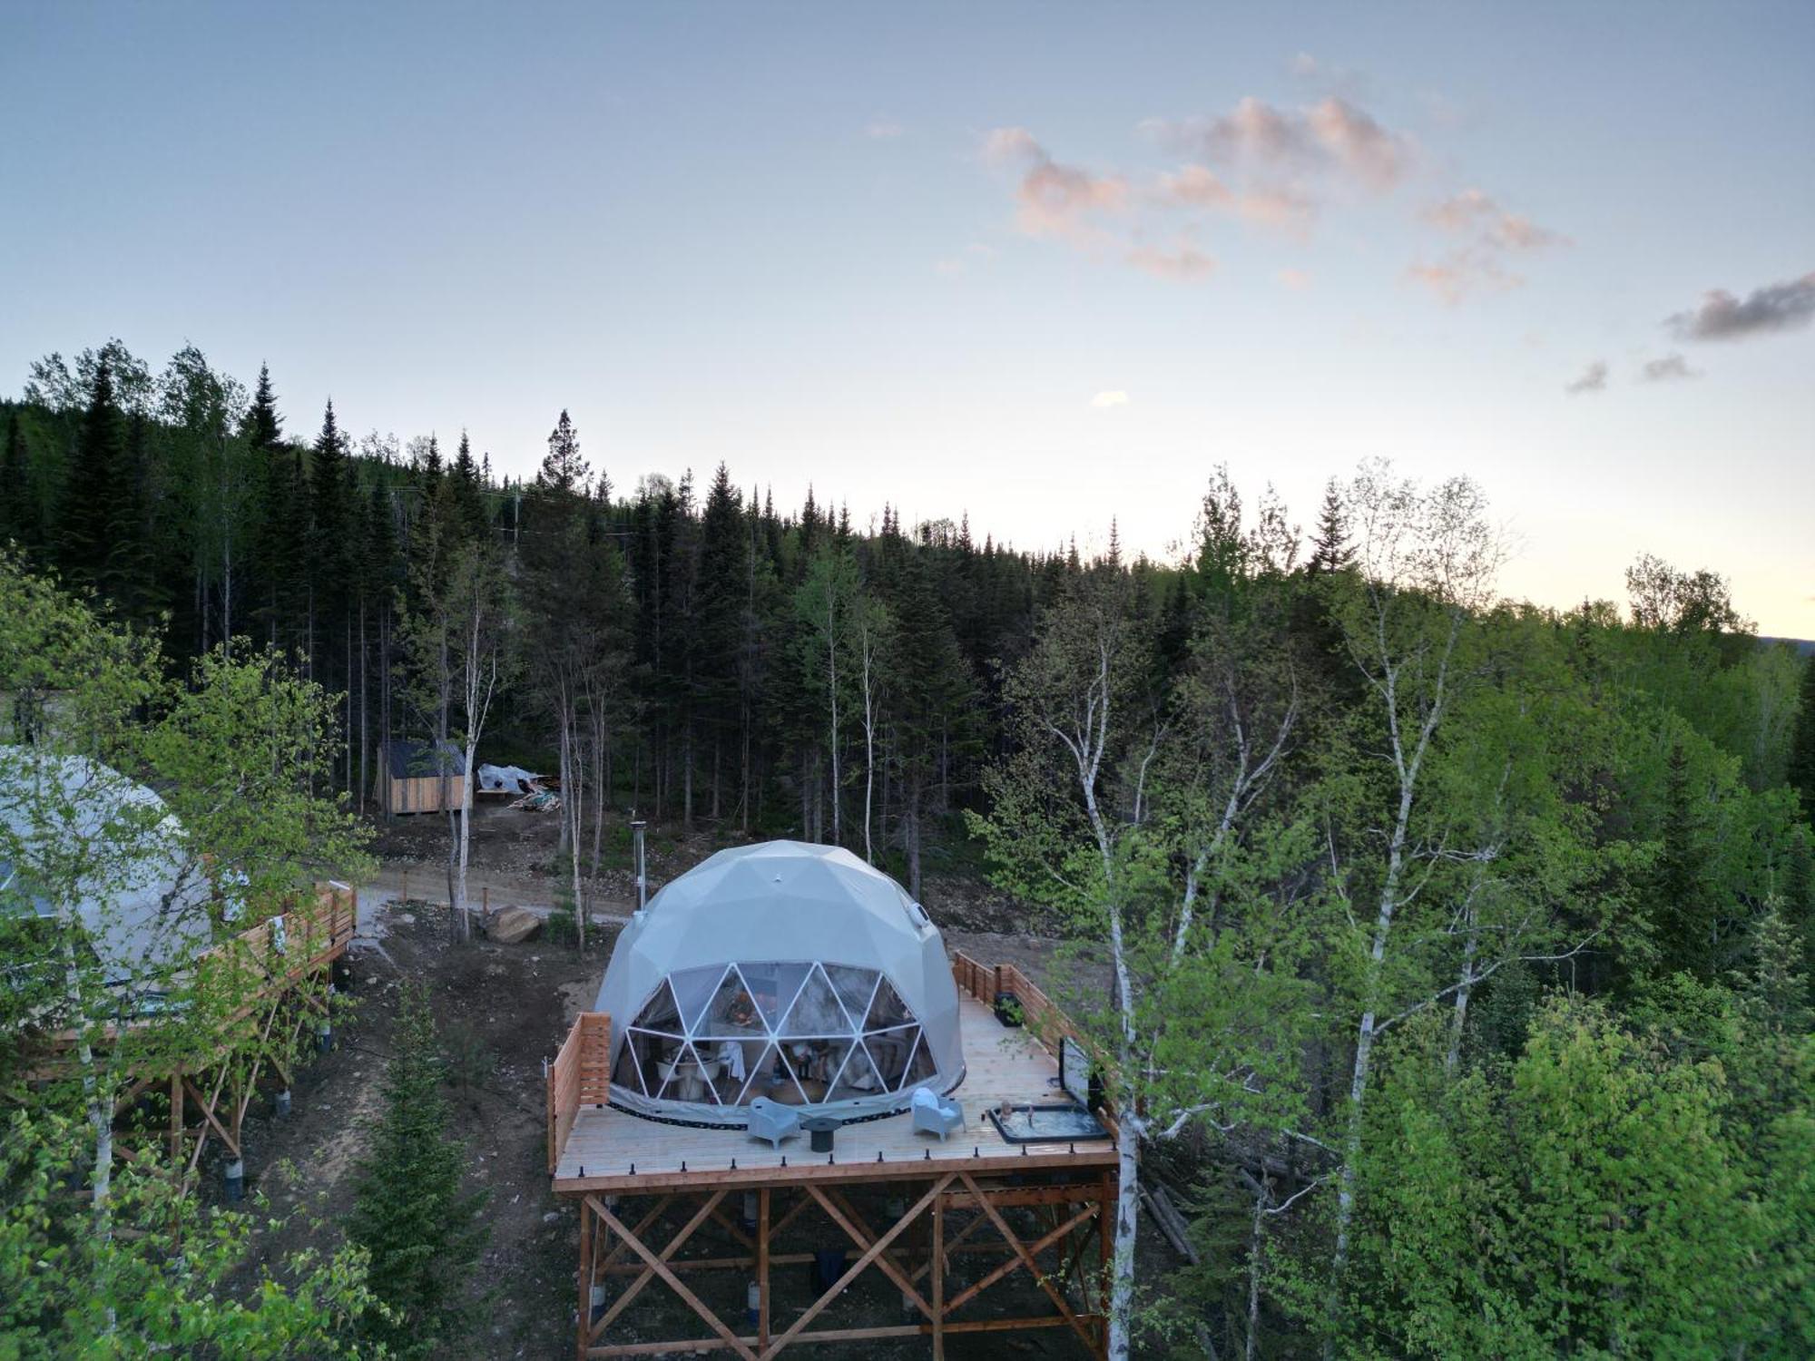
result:
[[(309, 1229), (310, 1216), (334, 1225), (350, 1209), (365, 1152), (365, 1123), (379, 1107), (399, 982), (423, 980), (443, 1049), (452, 1058), (454, 1132), (472, 1152), (474, 1185), (488, 1192), (492, 1239), (474, 1287), (486, 1301), (481, 1310), (485, 1323), (472, 1336), (466, 1356), (572, 1356), (577, 1219), (548, 1192), (541, 1065), (559, 1047), (572, 1016), (590, 1005), (617, 935), (617, 925), (604, 918), (633, 906), (633, 882), (624, 864), (604, 858), (601, 875), (588, 889), (594, 911), (603, 916), (584, 956), (544, 935), (519, 945), (488, 940), (452, 945), (445, 907), (445, 838), (446, 822), (437, 817), (379, 827), (385, 873), (381, 887), (376, 886), (370, 895), (379, 906), (361, 927), (361, 936), (376, 936), (376, 945), (363, 940), (352, 958), (352, 1014), (339, 1023), (332, 1051), (299, 1072), (294, 1111), (287, 1120), (272, 1118), (269, 1107), (249, 1116), (249, 1183), (270, 1199), (274, 1212), (289, 1216), (289, 1223), (263, 1247), (278, 1250), (310, 1241), (319, 1234)], [(722, 844), (730, 842), (704, 835), (686, 840), (652, 835), (652, 887)], [(557, 878), (548, 873), (554, 846), (552, 817), (508, 809), (477, 815), (472, 871), (476, 884), (488, 887), (490, 906), (555, 902)], [(628, 862), (628, 857), (617, 860)], [(408, 896), (399, 891), (405, 875)], [(984, 962), (1015, 962), (1045, 978), (1051, 942), (1016, 929), (1013, 906), (1004, 906), (991, 889), (969, 886), (967, 891), (953, 891), (957, 887), (929, 884), (926, 893), (949, 944)], [(474, 896), (479, 896), (477, 887)], [(877, 1210), (880, 1214), (880, 1207)], [(1149, 1243), (1143, 1234), (1143, 1267), (1158, 1267), (1162, 1252), (1160, 1243)], [(840, 1327), (835, 1319), (846, 1314), (849, 1317), (842, 1327), (862, 1323), (864, 1308), (871, 1310), (868, 1321), (882, 1321), (875, 1308), (888, 1314), (889, 1299), (878, 1283), (875, 1272), (866, 1272), (864, 1283), (848, 1290), (849, 1299), (828, 1310), (828, 1327)], [(741, 1288), (741, 1283), (733, 1285)], [(793, 1294), (800, 1296), (797, 1303)], [(804, 1281), (777, 1279), (777, 1308), (799, 1308), (808, 1299)], [(1004, 1294), (1002, 1305), (1038, 1314), (1044, 1312), (1040, 1299), (1036, 1290), (1022, 1297)], [(613, 1328), (613, 1341), (648, 1341), (697, 1330), (679, 1301), (652, 1288)], [(1082, 1348), (1062, 1330), (1013, 1337), (986, 1334), (971, 1345), (957, 1339), (947, 1345), (953, 1357), (995, 1357), (1004, 1348), (1035, 1357), (1082, 1356)], [(815, 1354), (829, 1361), (906, 1361), (924, 1356), (926, 1348), (917, 1343), (824, 1345)]]

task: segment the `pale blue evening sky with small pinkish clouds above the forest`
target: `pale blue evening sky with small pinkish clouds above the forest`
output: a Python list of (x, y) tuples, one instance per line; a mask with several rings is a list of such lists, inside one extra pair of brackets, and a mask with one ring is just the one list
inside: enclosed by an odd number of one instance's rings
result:
[[(1514, 593), (1657, 552), (1815, 637), (1811, 53), (1811, 4), (0, 0), (0, 390), (187, 339), (292, 432), (528, 472), (568, 406), (619, 486), (1022, 546), (1390, 455), (1488, 488)], [(1741, 334), (1666, 327), (1715, 289)]]

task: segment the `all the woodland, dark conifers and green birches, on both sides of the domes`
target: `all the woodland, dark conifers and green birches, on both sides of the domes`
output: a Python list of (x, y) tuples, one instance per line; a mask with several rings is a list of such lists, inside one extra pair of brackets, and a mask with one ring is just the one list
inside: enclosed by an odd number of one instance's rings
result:
[[(212, 902), (274, 904), (374, 875), (396, 742), (550, 777), (592, 971), (632, 818), (846, 847), (940, 924), (1011, 904), (1118, 1111), (1107, 1356), (1815, 1354), (1815, 661), (1719, 563), (1508, 599), (1461, 466), (1332, 461), (1289, 506), (1205, 465), (1154, 557), (1002, 543), (962, 488), (908, 523), (624, 466), (566, 410), (506, 477), (446, 417), (399, 441), (120, 341), (0, 403), (0, 871), (36, 866), (0, 873), (0, 1029), (80, 1040), (67, 1082), (0, 1049), (0, 1356), (523, 1354), (474, 1327), (541, 1305), (472, 1285), (428, 991), (374, 1098), (392, 1156), (272, 1247), (301, 1209), (113, 1149), (136, 1091), (65, 902), (129, 871), (44, 853), (93, 818), (16, 815), (56, 802), (44, 753), (103, 762)], [(419, 875), (456, 953), (465, 822)]]

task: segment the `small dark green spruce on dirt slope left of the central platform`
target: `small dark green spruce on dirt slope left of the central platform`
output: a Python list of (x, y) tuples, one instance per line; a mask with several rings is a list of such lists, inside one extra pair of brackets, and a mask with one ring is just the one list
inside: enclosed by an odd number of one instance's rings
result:
[(439, 1356), (472, 1312), (466, 1278), (488, 1239), (483, 1192), (461, 1187), (465, 1149), (448, 1136), (443, 1062), (428, 991), (405, 984), (385, 1105), (359, 1163), (347, 1236), (372, 1265), (367, 1283), (392, 1310), (363, 1319), (363, 1332), (392, 1356)]

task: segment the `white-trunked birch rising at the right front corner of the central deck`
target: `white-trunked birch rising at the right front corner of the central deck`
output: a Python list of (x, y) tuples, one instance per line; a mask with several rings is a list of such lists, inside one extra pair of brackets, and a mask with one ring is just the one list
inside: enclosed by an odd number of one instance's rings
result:
[[(1180, 713), (1154, 690), (1151, 659), (1151, 633), (1118, 566), (1069, 583), (1009, 679), (1022, 749), (986, 775), (991, 813), (973, 817), (1000, 882), (1058, 907), (1080, 938), (1080, 962), (1109, 974), (1094, 1004), (1082, 987), (1067, 1004), (1096, 1036), (1116, 1107), (1107, 1314), (1118, 1361), (1129, 1356), (1136, 1305), (1142, 1145), (1196, 1121), (1229, 1131), (1296, 1111), (1292, 1083), (1278, 1080), (1292, 1062), (1300, 994), (1290, 893), (1243, 893), (1231, 844), (1289, 740), (1292, 702), (1261, 717), (1240, 690), (1232, 700), (1216, 690), (1218, 704), (1234, 702), (1252, 720), (1252, 735), (1232, 748), (1211, 742), (1209, 757), (1182, 733), (1216, 719), (1189, 704)], [(1231, 798), (1227, 818), (1203, 817), (1207, 806), (1227, 811)], [(1307, 851), (1303, 829), (1258, 835), (1247, 849), (1252, 882), (1272, 876), (1261, 860), (1278, 866)], [(1218, 893), (1241, 896), (1241, 933), (1220, 931), (1214, 915), (1205, 925), (1198, 904), (1207, 876)]]

